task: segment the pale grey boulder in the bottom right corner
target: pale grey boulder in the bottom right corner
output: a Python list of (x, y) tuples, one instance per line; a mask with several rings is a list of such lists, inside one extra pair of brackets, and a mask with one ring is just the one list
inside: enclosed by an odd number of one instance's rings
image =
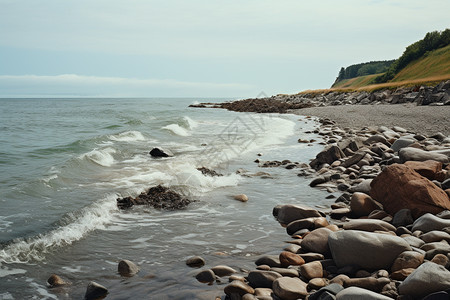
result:
[(450, 289), (450, 272), (433, 262), (423, 263), (398, 287), (401, 295), (415, 298)]

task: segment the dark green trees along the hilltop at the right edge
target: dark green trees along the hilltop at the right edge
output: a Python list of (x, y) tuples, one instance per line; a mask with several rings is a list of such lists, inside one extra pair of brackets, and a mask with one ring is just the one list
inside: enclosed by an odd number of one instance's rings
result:
[(374, 79), (375, 83), (384, 83), (393, 79), (410, 62), (426, 55), (428, 51), (450, 45), (450, 29), (428, 32), (425, 37), (406, 47), (405, 52), (390, 65), (386, 73)]

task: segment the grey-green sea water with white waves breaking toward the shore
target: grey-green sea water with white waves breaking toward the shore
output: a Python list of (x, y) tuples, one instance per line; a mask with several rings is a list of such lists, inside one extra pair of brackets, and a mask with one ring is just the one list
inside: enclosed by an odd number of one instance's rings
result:
[[(321, 146), (297, 139), (320, 139), (305, 133), (314, 120), (188, 108), (196, 100), (0, 99), (0, 299), (82, 299), (90, 281), (107, 299), (212, 299), (226, 282), (197, 282), (188, 257), (251, 269), (287, 238), (275, 205), (327, 205), (295, 169), (254, 162), (307, 163)], [(152, 158), (153, 147), (174, 157)], [(257, 172), (268, 176), (242, 175)], [(158, 184), (196, 201), (117, 208)], [(233, 200), (240, 193), (247, 203)], [(121, 259), (141, 271), (120, 277)], [(71, 284), (49, 288), (51, 274)]]

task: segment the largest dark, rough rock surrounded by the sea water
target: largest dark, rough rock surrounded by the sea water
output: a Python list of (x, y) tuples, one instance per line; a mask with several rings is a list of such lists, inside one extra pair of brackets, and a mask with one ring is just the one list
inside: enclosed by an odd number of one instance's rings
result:
[(125, 197), (117, 199), (117, 206), (120, 209), (130, 208), (133, 205), (150, 205), (158, 209), (182, 209), (192, 201), (184, 198), (177, 192), (169, 188), (158, 185), (152, 187), (146, 193), (141, 193), (136, 198)]

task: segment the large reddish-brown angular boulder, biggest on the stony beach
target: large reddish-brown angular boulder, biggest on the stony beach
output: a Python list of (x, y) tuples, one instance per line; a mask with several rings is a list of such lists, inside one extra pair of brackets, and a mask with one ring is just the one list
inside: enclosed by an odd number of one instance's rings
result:
[(449, 198), (443, 190), (405, 165), (386, 167), (372, 181), (371, 187), (371, 196), (391, 215), (405, 207), (414, 218), (450, 209)]

